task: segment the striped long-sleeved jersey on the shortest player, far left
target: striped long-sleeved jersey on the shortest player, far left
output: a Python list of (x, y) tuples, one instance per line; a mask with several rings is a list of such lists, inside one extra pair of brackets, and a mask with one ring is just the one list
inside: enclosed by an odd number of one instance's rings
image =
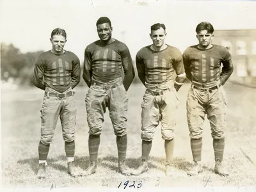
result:
[(47, 51), (36, 59), (33, 83), (42, 90), (47, 86), (62, 93), (70, 86), (77, 86), (80, 76), (80, 61), (76, 54), (65, 51), (58, 55)]

